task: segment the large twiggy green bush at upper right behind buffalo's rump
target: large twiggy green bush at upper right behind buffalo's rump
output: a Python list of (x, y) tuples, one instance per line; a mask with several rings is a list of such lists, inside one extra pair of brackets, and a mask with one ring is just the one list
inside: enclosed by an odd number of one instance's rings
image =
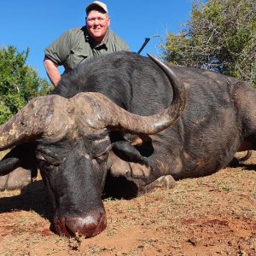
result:
[(255, 0), (195, 2), (178, 35), (168, 33), (163, 58), (174, 64), (217, 69), (256, 85)]

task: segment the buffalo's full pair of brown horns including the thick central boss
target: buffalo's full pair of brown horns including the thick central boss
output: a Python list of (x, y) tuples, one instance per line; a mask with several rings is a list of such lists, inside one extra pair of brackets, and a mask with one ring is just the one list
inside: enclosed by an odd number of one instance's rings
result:
[(172, 125), (183, 112), (185, 95), (183, 83), (170, 67), (148, 55), (166, 73), (173, 89), (172, 104), (152, 116), (129, 113), (101, 93), (79, 93), (71, 99), (61, 96), (41, 96), (28, 102), (12, 119), (0, 126), (0, 150), (44, 137), (58, 141), (67, 133), (75, 136), (93, 130), (110, 128), (137, 134), (154, 134)]

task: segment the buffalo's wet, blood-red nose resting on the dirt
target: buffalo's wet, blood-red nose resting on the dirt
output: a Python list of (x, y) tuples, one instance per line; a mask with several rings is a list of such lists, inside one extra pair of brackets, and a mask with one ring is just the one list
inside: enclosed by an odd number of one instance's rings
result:
[(55, 218), (55, 229), (64, 236), (92, 237), (101, 233), (107, 226), (104, 209), (91, 211), (84, 217)]

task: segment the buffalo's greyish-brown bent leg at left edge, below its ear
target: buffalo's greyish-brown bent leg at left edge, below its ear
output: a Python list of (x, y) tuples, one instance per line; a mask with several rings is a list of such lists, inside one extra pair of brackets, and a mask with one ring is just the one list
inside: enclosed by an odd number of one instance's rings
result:
[(22, 189), (32, 182), (30, 170), (18, 167), (13, 172), (0, 177), (0, 191)]

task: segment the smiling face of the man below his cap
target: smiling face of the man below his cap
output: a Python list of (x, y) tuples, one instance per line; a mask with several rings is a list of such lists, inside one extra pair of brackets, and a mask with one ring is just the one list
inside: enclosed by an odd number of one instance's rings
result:
[(96, 40), (96, 44), (101, 44), (110, 25), (108, 14), (103, 14), (98, 10), (91, 10), (87, 16), (86, 23), (90, 37)]

